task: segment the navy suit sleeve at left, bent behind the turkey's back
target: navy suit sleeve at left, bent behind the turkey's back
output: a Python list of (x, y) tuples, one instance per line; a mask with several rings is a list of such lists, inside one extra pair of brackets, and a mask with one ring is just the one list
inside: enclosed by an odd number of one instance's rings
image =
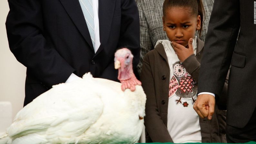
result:
[(44, 37), (40, 0), (8, 0), (6, 31), (11, 52), (29, 71), (51, 87), (65, 82), (74, 69)]

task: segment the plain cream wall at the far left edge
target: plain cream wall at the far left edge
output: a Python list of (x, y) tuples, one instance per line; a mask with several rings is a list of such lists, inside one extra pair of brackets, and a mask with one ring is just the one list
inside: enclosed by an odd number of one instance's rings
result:
[(8, 12), (7, 0), (0, 0), (0, 101), (11, 102), (14, 117), (23, 108), (26, 68), (15, 59), (9, 49), (5, 29)]

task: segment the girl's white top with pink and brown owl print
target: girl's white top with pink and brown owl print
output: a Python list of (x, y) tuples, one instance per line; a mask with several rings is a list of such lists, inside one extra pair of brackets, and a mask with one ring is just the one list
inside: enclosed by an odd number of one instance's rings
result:
[[(193, 38), (196, 53), (196, 36)], [(169, 40), (162, 43), (170, 67), (170, 85), (167, 129), (174, 143), (202, 142), (199, 116), (193, 109), (196, 100), (197, 83), (182, 66)]]

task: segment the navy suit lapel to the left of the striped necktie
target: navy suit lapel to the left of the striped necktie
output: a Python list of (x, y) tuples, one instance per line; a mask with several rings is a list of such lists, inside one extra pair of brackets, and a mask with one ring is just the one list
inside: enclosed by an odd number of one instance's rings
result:
[(60, 0), (64, 6), (66, 12), (71, 17), (77, 29), (83, 35), (86, 42), (90, 45), (91, 49), (94, 51), (93, 43), (90, 37), (89, 30), (87, 28), (84, 14), (81, 5), (78, 0)]

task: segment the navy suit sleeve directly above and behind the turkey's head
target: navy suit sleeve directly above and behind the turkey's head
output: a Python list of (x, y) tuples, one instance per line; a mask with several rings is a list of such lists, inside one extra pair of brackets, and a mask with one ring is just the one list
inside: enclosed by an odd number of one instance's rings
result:
[(139, 12), (134, 0), (122, 0), (121, 29), (118, 47), (127, 46), (133, 53), (133, 67), (140, 60), (140, 22)]

